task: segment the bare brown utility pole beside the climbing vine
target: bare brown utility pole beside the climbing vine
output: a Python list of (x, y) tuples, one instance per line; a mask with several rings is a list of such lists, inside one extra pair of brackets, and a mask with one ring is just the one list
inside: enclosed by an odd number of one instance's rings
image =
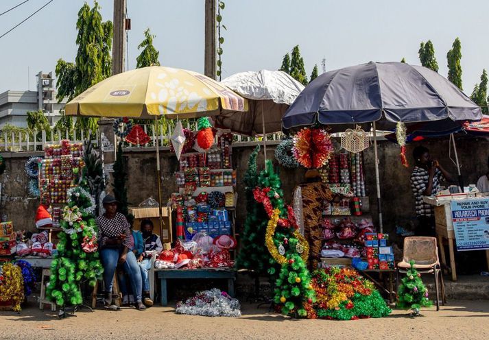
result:
[(205, 1), (205, 46), (204, 46), (204, 75), (215, 80), (215, 11), (216, 0)]

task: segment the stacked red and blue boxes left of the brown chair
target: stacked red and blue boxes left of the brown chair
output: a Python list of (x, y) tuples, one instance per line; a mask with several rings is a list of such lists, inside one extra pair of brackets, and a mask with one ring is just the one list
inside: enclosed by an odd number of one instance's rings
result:
[(368, 269), (388, 270), (395, 268), (392, 247), (387, 246), (389, 235), (368, 232), (365, 234)]

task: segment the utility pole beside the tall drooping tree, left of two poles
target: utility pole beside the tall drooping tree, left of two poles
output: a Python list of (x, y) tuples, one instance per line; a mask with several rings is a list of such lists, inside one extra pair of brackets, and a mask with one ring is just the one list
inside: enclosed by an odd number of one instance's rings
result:
[(112, 43), (112, 75), (124, 71), (126, 53), (126, 8), (127, 0), (114, 0), (114, 38)]

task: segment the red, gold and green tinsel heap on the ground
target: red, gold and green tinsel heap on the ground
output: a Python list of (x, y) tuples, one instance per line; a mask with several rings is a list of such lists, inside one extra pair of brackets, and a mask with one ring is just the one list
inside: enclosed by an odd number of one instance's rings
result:
[(385, 317), (391, 312), (372, 282), (353, 269), (318, 269), (311, 285), (316, 293), (316, 317), (350, 320)]

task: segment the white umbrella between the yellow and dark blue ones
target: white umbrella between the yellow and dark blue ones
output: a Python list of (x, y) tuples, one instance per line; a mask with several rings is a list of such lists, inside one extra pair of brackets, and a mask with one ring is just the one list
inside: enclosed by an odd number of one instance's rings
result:
[(283, 71), (241, 72), (221, 84), (251, 99), (247, 112), (224, 112), (214, 117), (217, 127), (256, 136), (282, 130), (282, 117), (304, 86)]

